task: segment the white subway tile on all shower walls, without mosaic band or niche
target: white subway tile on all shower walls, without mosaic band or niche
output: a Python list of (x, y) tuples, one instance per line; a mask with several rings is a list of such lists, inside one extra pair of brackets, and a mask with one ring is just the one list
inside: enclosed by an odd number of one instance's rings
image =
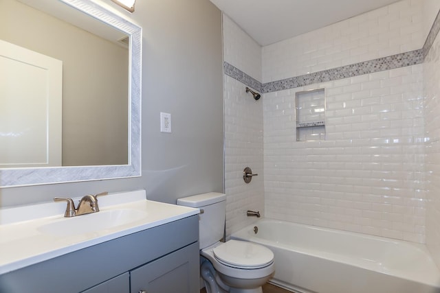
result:
[[(226, 19), (225, 61), (271, 82), (417, 50), (439, 8), (402, 0), (263, 47), (262, 58)], [(439, 51), (437, 38), (425, 65), (265, 93), (260, 104), (225, 75), (226, 235), (253, 220), (245, 210), (263, 209), (268, 218), (427, 242), (440, 266)], [(317, 88), (327, 99), (327, 140), (297, 142), (295, 93)], [(242, 164), (262, 174), (262, 161), (264, 182), (244, 185)]]

